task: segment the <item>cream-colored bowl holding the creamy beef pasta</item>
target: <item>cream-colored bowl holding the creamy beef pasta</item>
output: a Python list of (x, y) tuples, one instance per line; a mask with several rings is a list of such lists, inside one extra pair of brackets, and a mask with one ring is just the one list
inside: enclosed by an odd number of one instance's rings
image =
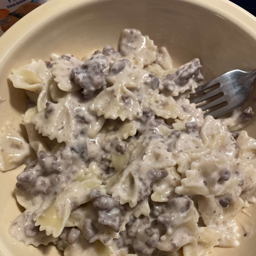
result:
[[(52, 52), (81, 58), (107, 44), (116, 47), (123, 28), (140, 29), (157, 46), (168, 47), (175, 65), (200, 58), (206, 79), (256, 68), (256, 18), (227, 0), (51, 0), (0, 38), (0, 96), (6, 99), (0, 105), (1, 125), (7, 120), (19, 125), (25, 111), (24, 92), (6, 79), (13, 68), (32, 58), (47, 60)], [(256, 90), (246, 103), (254, 112), (255, 100)], [(247, 131), (256, 137), (254, 127), (255, 121)], [(25, 247), (8, 234), (22, 211), (13, 194), (21, 169), (0, 173), (0, 256), (58, 255), (53, 246)], [(240, 214), (237, 219), (241, 233), (243, 228), (253, 232), (256, 211), (252, 218)], [(242, 237), (237, 248), (216, 248), (212, 255), (255, 256), (256, 236)]]

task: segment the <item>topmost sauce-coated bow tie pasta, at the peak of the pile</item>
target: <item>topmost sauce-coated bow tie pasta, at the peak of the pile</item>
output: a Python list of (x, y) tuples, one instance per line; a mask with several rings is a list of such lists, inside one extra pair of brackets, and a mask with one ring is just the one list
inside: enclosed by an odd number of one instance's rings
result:
[(123, 29), (118, 48), (123, 56), (141, 68), (149, 66), (157, 58), (154, 42), (137, 29)]

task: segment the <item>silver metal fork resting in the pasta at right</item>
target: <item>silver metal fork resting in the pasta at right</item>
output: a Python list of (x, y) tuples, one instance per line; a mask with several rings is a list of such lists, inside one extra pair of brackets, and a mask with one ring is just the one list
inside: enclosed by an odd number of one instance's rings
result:
[[(245, 72), (242, 70), (232, 70), (225, 73), (222, 76), (219, 76), (212, 81), (203, 84), (195, 89), (195, 93), (202, 93), (205, 90), (212, 88), (213, 86), (220, 84), (220, 87), (212, 90), (210, 92), (206, 92), (202, 96), (196, 97), (191, 100), (190, 103), (201, 103), (200, 106), (196, 106), (197, 108), (201, 108), (202, 111), (206, 111), (205, 116), (211, 115), (214, 118), (221, 116), (234, 108), (238, 108), (250, 96), (250, 93), (253, 88), (253, 81), (256, 79), (256, 70), (251, 72)], [(210, 101), (210, 99), (218, 94), (223, 93), (224, 95), (219, 97), (218, 99), (214, 99)], [(207, 102), (204, 102), (208, 100)], [(223, 106), (223, 103), (227, 102), (227, 105)], [(221, 105), (222, 104), (222, 105)], [(220, 108), (215, 109), (212, 112), (209, 112), (211, 108), (217, 107), (221, 105)]]

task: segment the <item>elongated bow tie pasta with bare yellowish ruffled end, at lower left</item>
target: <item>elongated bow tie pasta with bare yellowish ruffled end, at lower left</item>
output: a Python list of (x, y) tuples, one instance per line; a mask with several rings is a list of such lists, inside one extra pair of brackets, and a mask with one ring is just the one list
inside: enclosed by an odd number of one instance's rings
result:
[(101, 184), (97, 179), (84, 180), (57, 195), (54, 201), (52, 198), (45, 201), (34, 218), (35, 225), (40, 226), (40, 231), (46, 230), (47, 236), (52, 234), (58, 237), (68, 221), (72, 207), (90, 201), (89, 195), (93, 189), (104, 191)]

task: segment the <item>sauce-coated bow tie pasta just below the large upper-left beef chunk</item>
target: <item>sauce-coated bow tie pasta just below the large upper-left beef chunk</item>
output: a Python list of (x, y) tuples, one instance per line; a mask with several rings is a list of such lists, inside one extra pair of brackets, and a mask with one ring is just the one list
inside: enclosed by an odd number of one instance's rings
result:
[(32, 118), (36, 130), (58, 143), (71, 142), (84, 137), (94, 137), (105, 120), (87, 111), (90, 102), (80, 93), (68, 93), (57, 104), (47, 102), (47, 108)]

